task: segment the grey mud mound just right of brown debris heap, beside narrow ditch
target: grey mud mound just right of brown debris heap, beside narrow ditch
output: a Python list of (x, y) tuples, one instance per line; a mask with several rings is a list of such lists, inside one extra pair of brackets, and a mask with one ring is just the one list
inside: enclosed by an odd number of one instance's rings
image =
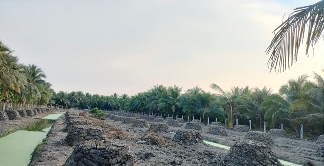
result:
[(193, 145), (193, 144), (199, 144), (203, 143), (202, 136), (199, 132), (195, 130), (178, 130), (173, 140), (174, 142), (177, 142), (180, 145)]

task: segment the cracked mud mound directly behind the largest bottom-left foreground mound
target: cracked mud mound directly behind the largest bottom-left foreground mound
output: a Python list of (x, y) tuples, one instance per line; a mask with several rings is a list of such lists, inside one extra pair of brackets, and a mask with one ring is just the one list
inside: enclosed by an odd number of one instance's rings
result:
[(86, 140), (104, 140), (105, 132), (98, 126), (75, 125), (66, 136), (65, 141), (69, 146), (76, 146)]

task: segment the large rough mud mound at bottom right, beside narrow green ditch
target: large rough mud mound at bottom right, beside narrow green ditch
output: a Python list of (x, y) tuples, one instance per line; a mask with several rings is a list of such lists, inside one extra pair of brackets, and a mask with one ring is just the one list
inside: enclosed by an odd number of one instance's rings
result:
[(270, 147), (262, 142), (240, 140), (220, 162), (220, 166), (281, 166)]

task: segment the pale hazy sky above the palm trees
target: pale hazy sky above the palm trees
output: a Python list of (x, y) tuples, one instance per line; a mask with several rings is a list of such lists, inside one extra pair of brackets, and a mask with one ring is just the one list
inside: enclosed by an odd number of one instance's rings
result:
[[(0, 40), (58, 91), (135, 95), (153, 85), (271, 87), (315, 71), (321, 39), (269, 73), (265, 50), (283, 16), (317, 1), (0, 1)], [(287, 17), (285, 17), (287, 18)], [(311, 78), (311, 77), (310, 77)]]

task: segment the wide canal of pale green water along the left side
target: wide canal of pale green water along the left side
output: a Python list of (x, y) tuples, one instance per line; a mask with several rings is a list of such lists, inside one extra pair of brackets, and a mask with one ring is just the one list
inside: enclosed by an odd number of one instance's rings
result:
[[(62, 114), (52, 113), (48, 116), (58, 118)], [(30, 119), (28, 125), (23, 130), (18, 130), (0, 138), (0, 166), (27, 166), (30, 162), (30, 154), (46, 138), (54, 122), (54, 118)]]

